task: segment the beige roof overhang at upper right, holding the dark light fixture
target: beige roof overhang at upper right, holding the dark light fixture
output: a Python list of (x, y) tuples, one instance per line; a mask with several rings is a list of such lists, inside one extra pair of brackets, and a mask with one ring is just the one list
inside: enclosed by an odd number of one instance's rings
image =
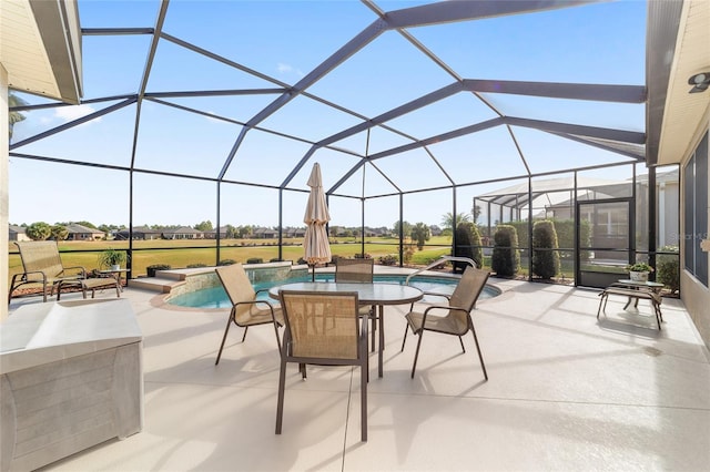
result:
[(710, 2), (649, 1), (647, 164), (678, 164), (710, 106), (710, 90), (689, 93), (688, 79), (710, 71)]

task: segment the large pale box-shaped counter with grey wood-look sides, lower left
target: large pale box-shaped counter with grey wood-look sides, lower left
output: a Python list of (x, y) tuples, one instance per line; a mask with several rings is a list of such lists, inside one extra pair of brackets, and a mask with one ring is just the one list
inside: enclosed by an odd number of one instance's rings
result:
[(0, 469), (33, 470), (143, 427), (129, 300), (26, 305), (0, 325)]

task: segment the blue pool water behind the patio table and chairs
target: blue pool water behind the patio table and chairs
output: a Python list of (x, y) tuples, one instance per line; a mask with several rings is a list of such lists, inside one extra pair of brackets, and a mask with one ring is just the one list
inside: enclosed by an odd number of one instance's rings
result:
[[(404, 285), (406, 276), (375, 276), (375, 281)], [(333, 274), (320, 274), (316, 276), (317, 281), (333, 281)], [(287, 280), (277, 280), (270, 283), (254, 284), (255, 290), (268, 289), (276, 285), (295, 281), (311, 281), (311, 276), (293, 277)], [(437, 294), (452, 294), (458, 279), (432, 276), (415, 276), (409, 280), (409, 285), (417, 287), (423, 291)], [(480, 294), (480, 298), (491, 298), (498, 295), (498, 290), (494, 287), (486, 286)], [(258, 294), (258, 298), (271, 300), (266, 291)], [(273, 301), (273, 300), (271, 300)], [(204, 288), (202, 290), (191, 291), (189, 294), (178, 295), (168, 300), (171, 305), (189, 308), (232, 308), (232, 304), (222, 286), (213, 288)]]

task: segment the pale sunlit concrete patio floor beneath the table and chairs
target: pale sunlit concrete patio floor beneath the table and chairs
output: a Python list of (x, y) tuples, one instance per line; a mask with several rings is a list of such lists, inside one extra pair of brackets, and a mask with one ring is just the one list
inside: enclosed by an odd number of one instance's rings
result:
[(658, 331), (645, 301), (623, 311), (611, 297), (598, 321), (598, 291), (491, 281), (503, 295), (475, 311), (487, 382), (470, 336), (462, 355), (455, 338), (428, 334), (410, 379), (416, 338), (399, 352), (405, 307), (386, 307), (366, 443), (356, 369), (310, 367), (302, 381), (290, 366), (275, 435), (271, 328), (252, 328), (244, 343), (232, 328), (215, 366), (227, 310), (169, 308), (126, 288), (144, 335), (143, 431), (47, 470), (708, 470), (710, 355), (680, 300), (663, 300)]

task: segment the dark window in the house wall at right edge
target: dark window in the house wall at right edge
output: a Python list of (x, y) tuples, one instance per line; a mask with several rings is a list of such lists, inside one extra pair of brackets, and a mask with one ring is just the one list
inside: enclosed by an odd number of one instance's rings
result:
[(686, 269), (708, 286), (708, 254), (700, 248), (708, 239), (708, 133), (683, 168), (686, 202)]

